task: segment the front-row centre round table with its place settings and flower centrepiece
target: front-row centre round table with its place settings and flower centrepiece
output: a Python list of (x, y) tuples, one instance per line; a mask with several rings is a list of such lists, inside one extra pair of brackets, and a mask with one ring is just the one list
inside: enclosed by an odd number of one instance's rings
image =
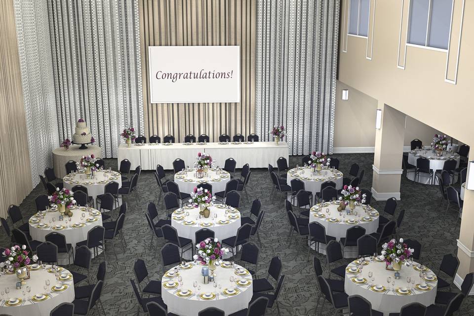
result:
[[(252, 275), (234, 262), (222, 261), (229, 250), (218, 238), (200, 241), (194, 262), (182, 262), (161, 278), (161, 297), (168, 313), (197, 316), (216, 307), (230, 315), (248, 307), (253, 295)], [(205, 255), (209, 250), (210, 256)]]

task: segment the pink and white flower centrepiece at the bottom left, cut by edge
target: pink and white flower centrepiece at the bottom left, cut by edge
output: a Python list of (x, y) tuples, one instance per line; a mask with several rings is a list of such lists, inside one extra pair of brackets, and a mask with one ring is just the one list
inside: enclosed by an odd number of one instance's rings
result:
[(16, 276), (20, 279), (22, 285), (25, 285), (25, 279), (30, 278), (30, 271), (28, 265), (34, 261), (38, 261), (38, 256), (30, 257), (30, 252), (26, 250), (26, 245), (14, 245), (10, 249), (6, 248), (2, 252), (5, 262), (0, 262), (0, 268), (5, 268), (9, 271), (15, 270)]

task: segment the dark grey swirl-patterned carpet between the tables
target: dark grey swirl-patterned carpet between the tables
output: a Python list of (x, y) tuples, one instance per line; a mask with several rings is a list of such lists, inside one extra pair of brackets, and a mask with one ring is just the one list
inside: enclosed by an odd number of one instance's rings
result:
[[(373, 154), (333, 155), (333, 157), (340, 159), (340, 170), (345, 173), (349, 172), (351, 163), (359, 163), (361, 168), (365, 169), (361, 187), (370, 190)], [(295, 166), (296, 163), (301, 164), (301, 157), (290, 157), (289, 165)], [(116, 169), (117, 159), (107, 159), (106, 164), (107, 167), (110, 165)], [(238, 161), (237, 165), (239, 165)], [(171, 179), (172, 173), (169, 171), (166, 173), (167, 178)], [(137, 311), (138, 303), (129, 282), (130, 278), (134, 279), (132, 268), (137, 258), (145, 260), (152, 279), (161, 277), (161, 260), (158, 260), (156, 250), (153, 248), (150, 250), (151, 232), (145, 219), (147, 202), (156, 201), (158, 198), (152, 171), (142, 172), (139, 186), (138, 207), (133, 197), (129, 197), (128, 200), (129, 210), (123, 230), (127, 240), (127, 250), (123, 253), (117, 243), (118, 261), (115, 260), (112, 250), (108, 252), (108, 271), (102, 291), (102, 302), (109, 316), (134, 315)], [(266, 210), (260, 232), (262, 244), (260, 245), (258, 276), (266, 276), (270, 259), (273, 256), (280, 256), (283, 262), (282, 274), (286, 275), (283, 290), (278, 298), (281, 315), (316, 315), (316, 277), (312, 262), (306, 260), (307, 245), (299, 238), (297, 243), (293, 241), (291, 247), (287, 247), (288, 222), (283, 197), (270, 196), (270, 190), (268, 171), (266, 169), (252, 170), (247, 187), (250, 202), (241, 199), (240, 211), (245, 216), (248, 216), (251, 202), (255, 198), (261, 198), (262, 207)], [(39, 185), (20, 205), (25, 219), (35, 211), (34, 198), (40, 193), (43, 193), (43, 189)], [(439, 191), (435, 186), (415, 184), (403, 179), (401, 197), (402, 200), (398, 203), (395, 216), (402, 209), (406, 210), (406, 214), (398, 234), (404, 238), (419, 240), (422, 243), (420, 261), (437, 272), (442, 256), (457, 251), (456, 239), (459, 237), (459, 223), (455, 225), (457, 213), (453, 209), (448, 212), (446, 220), (443, 220), (444, 207), (439, 204)], [(371, 205), (382, 210), (385, 202), (372, 200)], [(160, 216), (164, 217), (162, 202), (159, 211)], [(115, 217), (116, 213), (113, 215), (113, 218)], [(253, 241), (257, 243), (257, 240)], [(157, 244), (156, 240), (154, 242)], [(161, 239), (158, 246), (162, 244), (163, 240)], [(8, 245), (5, 234), (1, 234), (0, 245)], [(325, 262), (323, 255), (318, 254), (317, 256), (321, 262)], [(102, 256), (92, 261), (91, 275), (93, 275), (93, 279), (95, 279), (101, 260), (103, 260)], [(81, 272), (76, 267), (73, 270)], [(326, 304), (322, 314), (318, 313), (317, 315), (332, 315), (333, 313), (334, 310)], [(276, 308), (273, 311), (268, 310), (267, 315), (277, 315)], [(468, 297), (465, 300), (461, 315), (474, 315), (473, 297)]]

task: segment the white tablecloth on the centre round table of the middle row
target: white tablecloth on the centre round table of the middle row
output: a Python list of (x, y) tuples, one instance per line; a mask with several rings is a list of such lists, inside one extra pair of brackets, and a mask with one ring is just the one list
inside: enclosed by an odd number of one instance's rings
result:
[[(216, 205), (222, 205), (222, 204), (216, 204)], [(176, 228), (178, 231), (178, 236), (179, 237), (185, 237), (193, 240), (193, 244), (196, 244), (196, 236), (195, 233), (200, 230), (201, 228), (207, 228), (210, 229), (211, 231), (214, 231), (215, 237), (218, 238), (219, 240), (229, 238), (232, 236), (236, 236), (237, 234), (237, 229), (240, 227), (240, 212), (235, 209), (235, 208), (230, 208), (232, 212), (229, 212), (228, 215), (226, 215), (226, 208), (219, 208), (216, 205), (209, 206), (210, 216), (208, 218), (198, 218), (199, 217), (199, 208), (195, 207), (184, 207), (177, 209), (176, 211), (173, 212), (171, 216), (171, 226)], [(181, 212), (184, 210), (184, 212)], [(189, 213), (188, 216), (186, 216), (186, 212)], [(217, 214), (217, 218), (214, 217), (214, 215)], [(177, 220), (176, 216), (183, 216), (184, 219), (179, 219)], [(229, 218), (229, 215), (237, 215), (237, 218)], [(179, 218), (179, 217), (178, 217)], [(228, 224), (218, 224), (218, 221), (220, 220), (229, 220)], [(193, 225), (184, 225), (184, 221), (190, 220), (196, 222)], [(202, 226), (203, 223), (211, 223), (212, 226), (210, 227), (205, 227)], [(201, 241), (201, 240), (198, 240)]]

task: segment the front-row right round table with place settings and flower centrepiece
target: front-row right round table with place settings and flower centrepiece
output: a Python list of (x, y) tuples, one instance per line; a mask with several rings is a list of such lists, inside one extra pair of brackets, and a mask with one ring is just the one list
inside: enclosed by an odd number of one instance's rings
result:
[[(397, 250), (401, 250), (401, 255), (396, 254)], [(403, 239), (392, 239), (383, 244), (381, 255), (351, 262), (346, 268), (346, 293), (364, 297), (373, 310), (384, 316), (399, 313), (402, 306), (413, 302), (425, 306), (434, 304), (436, 275), (414, 262), (410, 258), (412, 254), (413, 249), (408, 248)]]

